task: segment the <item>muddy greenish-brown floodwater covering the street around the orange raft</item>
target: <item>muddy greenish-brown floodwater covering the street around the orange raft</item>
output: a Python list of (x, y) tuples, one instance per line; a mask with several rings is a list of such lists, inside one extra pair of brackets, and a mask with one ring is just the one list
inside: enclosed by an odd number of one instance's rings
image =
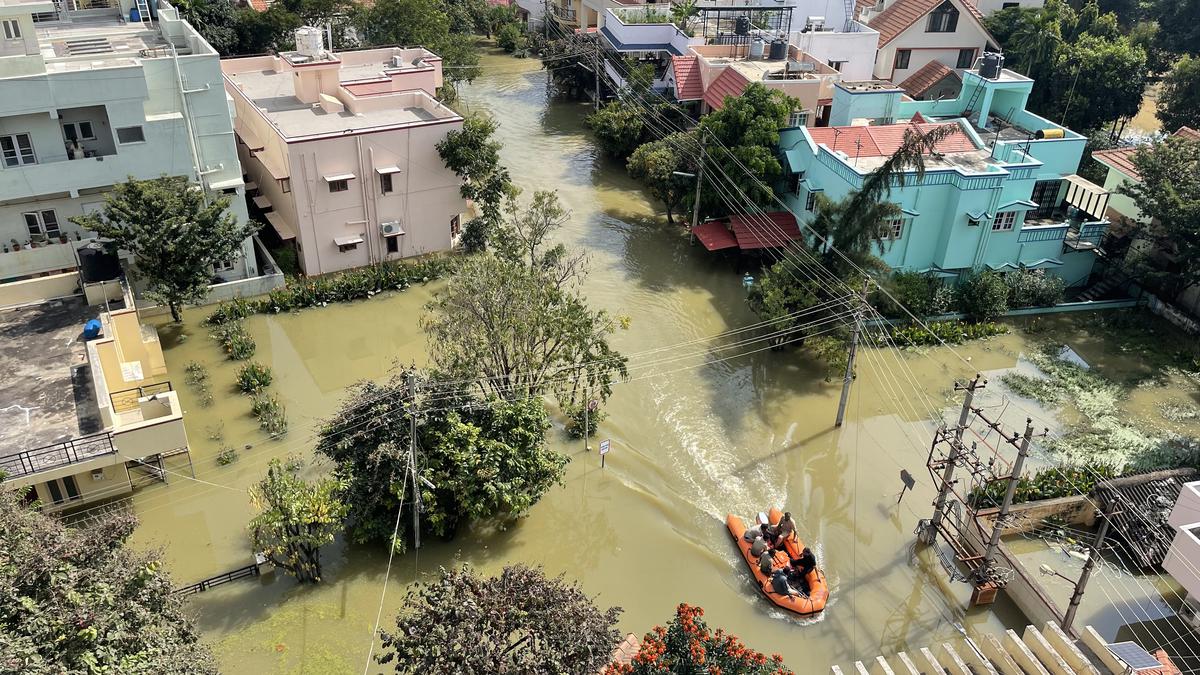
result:
[[(499, 120), (503, 160), (518, 185), (558, 187), (571, 210), (562, 239), (590, 255), (589, 300), (630, 319), (616, 336), (631, 357), (630, 381), (614, 388), (600, 425), (599, 437), (612, 443), (607, 466), (556, 429), (552, 443), (571, 456), (562, 486), (509, 528), (479, 524), (450, 542), (426, 540), (394, 561), (386, 589), (385, 551), (338, 542), (325, 552), (320, 585), (299, 587), (280, 573), (193, 596), (226, 671), (361, 671), (380, 593), (386, 627), (408, 584), (460, 561), (484, 572), (521, 561), (578, 579), (596, 603), (624, 608), (622, 631), (638, 634), (679, 602), (698, 604), (714, 625), (781, 653), (798, 673), (1024, 625), (1003, 599), (965, 610), (970, 589), (950, 584), (930, 551), (914, 554), (912, 532), (931, 502), (931, 412), (953, 405), (953, 378), (1013, 368), (1025, 338), (958, 356), (865, 348), (847, 423), (834, 429), (840, 383), (824, 382), (810, 358), (743, 344), (745, 335), (707, 339), (755, 322), (740, 271), (665, 225), (622, 167), (598, 155), (582, 127), (587, 107), (552, 100), (535, 61), (485, 58), (462, 106)], [(418, 318), (436, 289), (250, 318), (254, 359), (271, 366), (271, 390), (287, 406), (290, 429), (280, 441), (257, 429), (248, 400), (234, 392), (236, 365), (199, 324), (206, 312), (164, 325), (198, 480), (176, 462), (169, 484), (137, 492), (138, 544), (161, 546), (181, 584), (251, 562), (246, 488), (274, 456), (311, 460), (319, 420), (348, 386), (426, 362)], [(209, 407), (182, 384), (190, 362), (209, 369)], [(218, 466), (222, 446), (240, 459)], [(918, 485), (898, 504), (901, 468)], [(730, 542), (726, 513), (752, 516), (772, 504), (796, 515), (828, 573), (833, 601), (816, 620), (774, 610)]]

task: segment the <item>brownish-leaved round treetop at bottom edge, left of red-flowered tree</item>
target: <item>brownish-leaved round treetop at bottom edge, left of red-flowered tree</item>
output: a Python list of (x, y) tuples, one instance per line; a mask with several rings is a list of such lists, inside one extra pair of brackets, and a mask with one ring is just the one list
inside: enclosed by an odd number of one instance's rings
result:
[(514, 565), (488, 578), (443, 569), (408, 592), (378, 661), (396, 673), (595, 673), (620, 638), (619, 615), (540, 568)]

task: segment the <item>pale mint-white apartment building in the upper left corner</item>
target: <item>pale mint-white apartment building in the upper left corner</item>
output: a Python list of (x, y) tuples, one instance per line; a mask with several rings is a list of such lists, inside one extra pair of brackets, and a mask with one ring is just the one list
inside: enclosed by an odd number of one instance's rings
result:
[[(217, 53), (166, 2), (113, 1), (0, 0), (0, 281), (74, 269), (68, 219), (128, 177), (187, 177), (246, 219)], [(258, 275), (252, 243), (214, 271)]]

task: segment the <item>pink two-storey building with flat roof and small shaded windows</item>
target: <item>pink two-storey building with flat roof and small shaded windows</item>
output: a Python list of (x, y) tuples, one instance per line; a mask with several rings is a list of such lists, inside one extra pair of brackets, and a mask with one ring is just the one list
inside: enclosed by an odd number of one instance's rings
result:
[(296, 52), (221, 61), (246, 192), (307, 275), (450, 249), (467, 208), (437, 143), (462, 118), (433, 96), (421, 49)]

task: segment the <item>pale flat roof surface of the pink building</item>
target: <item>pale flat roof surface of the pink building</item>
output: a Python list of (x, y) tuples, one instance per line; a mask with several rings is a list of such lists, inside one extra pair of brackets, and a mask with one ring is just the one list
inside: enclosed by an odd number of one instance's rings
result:
[[(356, 70), (368, 66), (355, 66)], [(378, 72), (383, 72), (379, 64)], [(338, 133), (378, 126), (398, 126), (439, 119), (430, 110), (419, 107), (388, 107), (365, 114), (349, 110), (326, 113), (320, 107), (313, 107), (296, 98), (292, 72), (247, 71), (226, 73), (241, 92), (254, 103), (272, 125), (286, 137)], [(342, 78), (346, 79), (344, 77)], [(430, 98), (432, 101), (432, 98)]]

